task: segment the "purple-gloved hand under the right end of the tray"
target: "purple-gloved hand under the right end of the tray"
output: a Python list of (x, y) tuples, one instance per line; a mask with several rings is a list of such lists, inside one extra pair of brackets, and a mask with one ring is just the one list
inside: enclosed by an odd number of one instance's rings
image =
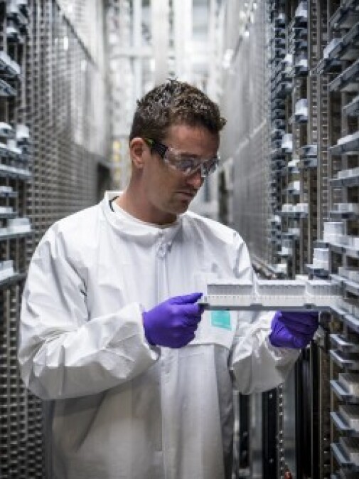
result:
[(318, 329), (318, 317), (317, 311), (277, 311), (269, 342), (291, 349), (306, 347)]

